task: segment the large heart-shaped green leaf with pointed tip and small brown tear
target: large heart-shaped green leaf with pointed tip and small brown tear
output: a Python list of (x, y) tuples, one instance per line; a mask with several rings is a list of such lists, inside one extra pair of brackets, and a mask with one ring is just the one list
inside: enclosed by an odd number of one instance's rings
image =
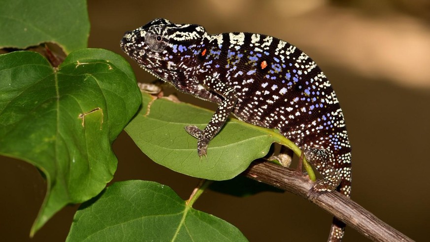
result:
[(32, 235), (112, 179), (111, 144), (140, 104), (131, 67), (113, 52), (72, 52), (58, 69), (35, 52), (0, 55), (0, 154), (33, 164), (47, 179)]

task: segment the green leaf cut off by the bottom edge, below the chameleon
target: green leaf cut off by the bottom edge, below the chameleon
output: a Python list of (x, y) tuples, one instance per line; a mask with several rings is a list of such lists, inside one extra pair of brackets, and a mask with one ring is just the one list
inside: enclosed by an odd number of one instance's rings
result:
[(230, 223), (187, 205), (165, 185), (116, 182), (76, 212), (72, 241), (246, 241)]

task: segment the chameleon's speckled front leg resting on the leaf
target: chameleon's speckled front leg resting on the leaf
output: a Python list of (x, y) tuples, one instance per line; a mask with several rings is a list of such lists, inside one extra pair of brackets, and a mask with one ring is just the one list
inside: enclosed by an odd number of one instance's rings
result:
[(213, 91), (224, 98), (206, 128), (200, 130), (196, 126), (192, 125), (185, 127), (188, 134), (198, 139), (197, 151), (198, 156), (200, 157), (206, 155), (209, 141), (214, 138), (218, 132), (220, 132), (237, 102), (237, 94), (235, 90), (218, 80), (218, 76), (219, 74), (216, 73), (213, 76), (207, 76), (203, 81), (204, 86), (206, 86), (210, 91)]

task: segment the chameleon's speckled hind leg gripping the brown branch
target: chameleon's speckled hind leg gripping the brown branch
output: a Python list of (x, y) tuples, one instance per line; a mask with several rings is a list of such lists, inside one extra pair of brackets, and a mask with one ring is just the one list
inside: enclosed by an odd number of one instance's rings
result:
[(322, 149), (307, 149), (304, 153), (306, 160), (311, 163), (317, 171), (323, 176), (309, 191), (309, 198), (311, 200), (317, 199), (319, 195), (331, 192), (336, 189), (340, 184), (341, 176), (336, 170), (333, 155), (330, 151)]

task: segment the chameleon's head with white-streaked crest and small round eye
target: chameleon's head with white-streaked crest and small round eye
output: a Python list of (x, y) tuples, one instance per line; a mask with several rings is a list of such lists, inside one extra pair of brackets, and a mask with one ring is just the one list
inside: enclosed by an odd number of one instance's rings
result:
[(193, 24), (173, 24), (166, 19), (154, 19), (146, 25), (126, 32), (121, 49), (139, 64), (165, 81), (177, 68), (178, 57), (185, 55), (194, 43), (207, 35), (204, 28)]

